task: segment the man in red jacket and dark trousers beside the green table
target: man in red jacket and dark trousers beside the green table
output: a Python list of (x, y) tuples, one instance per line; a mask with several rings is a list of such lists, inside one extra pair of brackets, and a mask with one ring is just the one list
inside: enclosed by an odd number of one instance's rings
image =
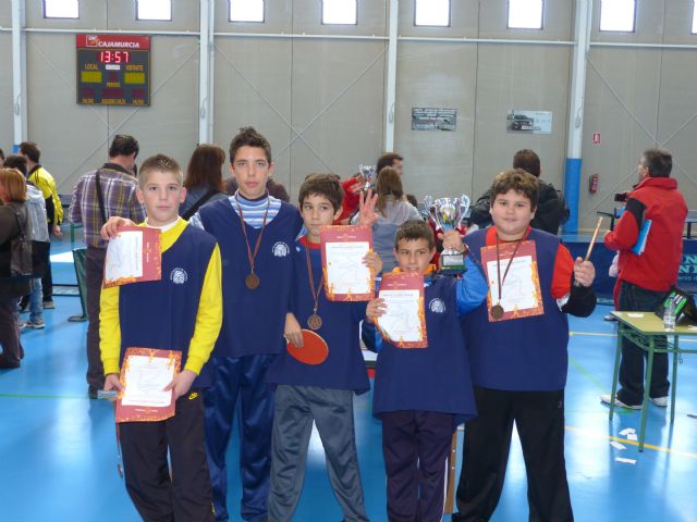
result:
[[(626, 208), (614, 231), (606, 234), (604, 245), (620, 252), (619, 310), (653, 312), (677, 281), (683, 257), (683, 226), (687, 215), (685, 198), (677, 181), (670, 177), (673, 157), (663, 149), (649, 149), (639, 161), (639, 183), (627, 197)], [(632, 251), (641, 226), (651, 220), (645, 250)], [(640, 409), (644, 401), (644, 357), (646, 352), (622, 340), (620, 385), (615, 405)], [(665, 344), (665, 337), (658, 340)], [(668, 355), (655, 353), (649, 397), (656, 406), (668, 405)], [(601, 395), (610, 402), (610, 395)]]

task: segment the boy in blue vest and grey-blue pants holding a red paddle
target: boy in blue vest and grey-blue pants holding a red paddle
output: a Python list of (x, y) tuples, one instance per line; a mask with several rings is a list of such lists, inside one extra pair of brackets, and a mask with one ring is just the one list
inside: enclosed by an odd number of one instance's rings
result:
[[(354, 393), (370, 389), (358, 340), (366, 303), (330, 301), (322, 289), (320, 228), (339, 217), (342, 196), (339, 181), (329, 174), (309, 175), (299, 189), (298, 202), (307, 234), (296, 243), (293, 252), (293, 311), (286, 318), (285, 336), (302, 347), (302, 330), (309, 328), (327, 343), (329, 352), (321, 363), (309, 364), (302, 357), (296, 359), (283, 351), (268, 372), (268, 382), (277, 386), (269, 492), (269, 520), (274, 522), (293, 519), (303, 488), (313, 421), (325, 447), (329, 480), (343, 520), (368, 520), (353, 419)], [(362, 224), (368, 223), (366, 207), (362, 206)], [(364, 263), (374, 274), (382, 269), (375, 252), (368, 252)]]

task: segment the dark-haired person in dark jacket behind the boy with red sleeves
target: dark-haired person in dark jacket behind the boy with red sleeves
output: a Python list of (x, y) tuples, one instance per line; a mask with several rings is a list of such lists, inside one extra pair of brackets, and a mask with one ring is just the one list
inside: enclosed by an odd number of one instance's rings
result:
[[(535, 217), (530, 222), (533, 228), (549, 232), (557, 235), (559, 226), (568, 217), (568, 209), (564, 202), (564, 198), (557, 191), (551, 183), (541, 181), (540, 158), (529, 149), (518, 150), (513, 157), (513, 169), (523, 169), (529, 172), (539, 182), (539, 195), (537, 200), (537, 209)], [(491, 206), (491, 189), (488, 189), (472, 206), (470, 221), (479, 228), (485, 228), (491, 224), (491, 214), (489, 208)]]

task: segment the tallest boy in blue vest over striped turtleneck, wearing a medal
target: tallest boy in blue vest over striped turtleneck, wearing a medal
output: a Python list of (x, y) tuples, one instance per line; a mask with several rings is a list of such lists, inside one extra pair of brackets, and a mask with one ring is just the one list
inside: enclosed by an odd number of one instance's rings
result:
[[(291, 310), (293, 248), (303, 227), (292, 204), (271, 197), (266, 184), (273, 174), (271, 145), (253, 127), (230, 144), (230, 172), (237, 191), (207, 203), (189, 223), (211, 234), (222, 259), (223, 319), (205, 384), (206, 450), (213, 487), (216, 520), (229, 520), (225, 453), (235, 412), (241, 427), (240, 467), (244, 520), (267, 514), (271, 469), (273, 391), (266, 373), (283, 348), (283, 328)], [(118, 225), (111, 217), (105, 238)]]

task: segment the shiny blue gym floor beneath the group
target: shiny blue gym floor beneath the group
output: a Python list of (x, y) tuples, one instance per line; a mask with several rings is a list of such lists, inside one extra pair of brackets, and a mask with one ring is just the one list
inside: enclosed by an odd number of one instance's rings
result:
[[(77, 244), (76, 246), (82, 246)], [(53, 244), (53, 279), (75, 282), (69, 240)], [(77, 297), (54, 298), (45, 311), (46, 328), (22, 334), (22, 368), (0, 371), (0, 520), (123, 522), (139, 520), (117, 472), (113, 407), (88, 400), (85, 383), (86, 323)], [(609, 393), (615, 326), (591, 318), (571, 318), (566, 387), (566, 468), (578, 521), (697, 521), (697, 357), (678, 368), (675, 422), (667, 409), (650, 405), (644, 453), (620, 431), (639, 430), (639, 412), (619, 410), (612, 422), (598, 395)], [(370, 414), (370, 394), (355, 400), (356, 436), (368, 514), (384, 521), (384, 470), (380, 424)], [(460, 433), (462, 444), (462, 432)], [(623, 439), (619, 450), (610, 442)], [(311, 439), (305, 488), (294, 520), (335, 521), (319, 438)], [(237, 442), (229, 455), (229, 506), (239, 519), (241, 497)], [(636, 459), (635, 464), (615, 461)], [(460, 472), (460, 464), (457, 465)], [(444, 520), (450, 520), (445, 517)], [(525, 468), (517, 440), (493, 521), (527, 520)]]

